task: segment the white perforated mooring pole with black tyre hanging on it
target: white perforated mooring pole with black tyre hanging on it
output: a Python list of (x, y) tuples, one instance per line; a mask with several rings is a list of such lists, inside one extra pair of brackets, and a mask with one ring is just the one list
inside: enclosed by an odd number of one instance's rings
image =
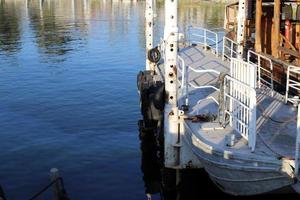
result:
[(146, 36), (146, 70), (155, 70), (155, 63), (148, 59), (148, 51), (153, 48), (154, 0), (146, 0), (145, 36)]

